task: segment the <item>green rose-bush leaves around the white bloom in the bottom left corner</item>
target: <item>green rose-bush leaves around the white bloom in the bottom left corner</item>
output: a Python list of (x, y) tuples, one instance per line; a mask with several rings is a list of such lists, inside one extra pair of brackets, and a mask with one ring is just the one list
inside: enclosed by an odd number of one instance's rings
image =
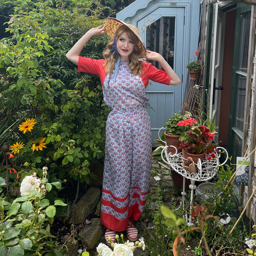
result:
[[(56, 207), (66, 204), (56, 199), (51, 205), (46, 198), (46, 191), (49, 192), (52, 185), (61, 188), (59, 182), (48, 183), (46, 175), (47, 172), (43, 171), (38, 187), (12, 202), (6, 201), (0, 191), (0, 255), (62, 255), (56, 249), (58, 244), (51, 243), (54, 236), (50, 233), (49, 223), (53, 222)], [(5, 186), (0, 177), (0, 187)]]

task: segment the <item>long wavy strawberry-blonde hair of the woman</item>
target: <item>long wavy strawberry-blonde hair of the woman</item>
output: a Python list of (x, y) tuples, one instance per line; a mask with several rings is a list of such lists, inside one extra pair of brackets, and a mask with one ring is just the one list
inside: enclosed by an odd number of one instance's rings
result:
[[(130, 25), (133, 26), (133, 25)], [(133, 28), (137, 29), (135, 26), (133, 26)], [(123, 32), (126, 32), (128, 37), (134, 41), (134, 50), (133, 52), (129, 55), (129, 61), (130, 61), (130, 65), (129, 68), (131, 70), (132, 74), (142, 74), (143, 73), (143, 65), (141, 63), (141, 61), (139, 61), (139, 58), (144, 58), (146, 57), (146, 53), (141, 52), (141, 50), (138, 47), (138, 42), (139, 39), (138, 37), (136, 37), (136, 35), (134, 34), (134, 32), (129, 29), (129, 27), (127, 27), (126, 25), (121, 25), (118, 27), (117, 31), (116, 31), (116, 40), (118, 40), (118, 38), (121, 36), (121, 34)], [(104, 57), (104, 65), (106, 73), (113, 73), (114, 71), (114, 67), (116, 65), (116, 61), (118, 58), (118, 53), (111, 53), (110, 50), (112, 49), (112, 46), (114, 46), (114, 37), (112, 37), (109, 41), (109, 43), (107, 44), (107, 49), (103, 52), (103, 57)], [(112, 56), (112, 60), (111, 60), (111, 56)]]

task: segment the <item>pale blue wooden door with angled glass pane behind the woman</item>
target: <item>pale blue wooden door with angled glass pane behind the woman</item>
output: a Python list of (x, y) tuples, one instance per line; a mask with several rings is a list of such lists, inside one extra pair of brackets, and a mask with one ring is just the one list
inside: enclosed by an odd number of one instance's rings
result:
[[(146, 27), (141, 33), (146, 49), (159, 52), (182, 80), (184, 8), (158, 8), (140, 20), (138, 27)], [(161, 69), (158, 63), (154, 66)], [(147, 108), (152, 129), (152, 144), (158, 138), (158, 130), (179, 112), (182, 106), (182, 84), (162, 85), (150, 82), (146, 87), (150, 99)]]

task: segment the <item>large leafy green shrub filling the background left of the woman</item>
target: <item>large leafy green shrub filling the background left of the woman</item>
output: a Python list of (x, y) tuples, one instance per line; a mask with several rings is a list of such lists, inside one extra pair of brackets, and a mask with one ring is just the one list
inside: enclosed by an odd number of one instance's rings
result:
[[(89, 183), (90, 165), (104, 157), (108, 111), (99, 78), (77, 73), (65, 53), (88, 29), (103, 24), (102, 6), (88, 0), (10, 3), (12, 37), (0, 43), (0, 123), (6, 129), (22, 117), (37, 122), (31, 135), (16, 129), (9, 136), (9, 145), (27, 145), (13, 160), (36, 168), (51, 164), (58, 178)], [(81, 14), (90, 4), (96, 5), (93, 15)], [(107, 35), (92, 38), (81, 55), (101, 58), (107, 41)], [(32, 142), (44, 137), (47, 148), (32, 153)]]

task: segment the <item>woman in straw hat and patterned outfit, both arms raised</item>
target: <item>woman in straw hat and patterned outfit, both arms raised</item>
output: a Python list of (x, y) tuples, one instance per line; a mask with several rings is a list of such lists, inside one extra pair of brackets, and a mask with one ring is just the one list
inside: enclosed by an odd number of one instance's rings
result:
[[(107, 32), (111, 39), (104, 60), (79, 56), (91, 37)], [(92, 28), (81, 37), (66, 57), (78, 65), (79, 72), (100, 77), (104, 101), (111, 111), (106, 124), (105, 162), (101, 202), (101, 222), (105, 239), (115, 241), (116, 232), (126, 230), (130, 241), (137, 239), (133, 221), (141, 216), (151, 170), (151, 129), (145, 103), (149, 80), (178, 85), (179, 77), (164, 58), (146, 50), (137, 27), (108, 18), (105, 26)], [(146, 58), (158, 61), (163, 70)]]

